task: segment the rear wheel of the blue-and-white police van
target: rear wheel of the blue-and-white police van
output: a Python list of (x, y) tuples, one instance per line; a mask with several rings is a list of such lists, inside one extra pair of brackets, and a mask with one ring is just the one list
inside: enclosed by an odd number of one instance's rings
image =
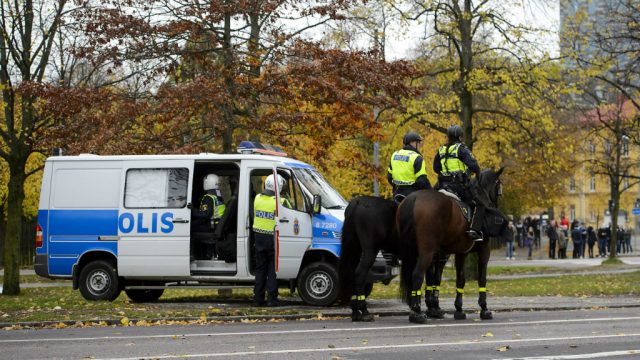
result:
[(113, 264), (97, 260), (80, 271), (80, 293), (87, 300), (115, 300), (120, 295), (118, 273)]

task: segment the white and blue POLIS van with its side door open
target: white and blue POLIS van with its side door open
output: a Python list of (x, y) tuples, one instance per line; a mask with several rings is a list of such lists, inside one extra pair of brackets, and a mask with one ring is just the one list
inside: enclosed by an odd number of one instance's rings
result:
[[(252, 287), (253, 200), (278, 174), (285, 184), (276, 193), (288, 200), (276, 209), (278, 284), (297, 288), (307, 304), (332, 304), (346, 201), (313, 166), (277, 147), (242, 142), (238, 152), (49, 157), (36, 273), (71, 279), (88, 300), (114, 300), (122, 290), (153, 301), (167, 288)], [(203, 232), (193, 212), (209, 174), (219, 179), (226, 211)], [(388, 283), (392, 270), (379, 256), (369, 280)]]

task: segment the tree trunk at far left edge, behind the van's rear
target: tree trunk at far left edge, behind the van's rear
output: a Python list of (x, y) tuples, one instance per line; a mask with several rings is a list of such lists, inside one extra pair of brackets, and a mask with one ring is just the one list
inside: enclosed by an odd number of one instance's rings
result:
[(24, 164), (26, 158), (9, 163), (7, 232), (4, 237), (3, 294), (20, 293), (20, 241), (22, 238), (22, 202), (24, 200)]

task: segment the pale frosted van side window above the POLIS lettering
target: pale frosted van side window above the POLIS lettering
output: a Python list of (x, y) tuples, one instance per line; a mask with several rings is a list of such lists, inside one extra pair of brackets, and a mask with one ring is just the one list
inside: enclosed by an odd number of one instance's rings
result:
[(187, 205), (189, 170), (130, 169), (124, 189), (125, 208), (183, 208)]

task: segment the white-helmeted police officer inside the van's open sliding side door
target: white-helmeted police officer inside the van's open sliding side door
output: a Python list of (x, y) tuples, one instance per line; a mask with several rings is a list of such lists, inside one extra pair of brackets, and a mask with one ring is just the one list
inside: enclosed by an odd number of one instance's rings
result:
[[(226, 206), (220, 193), (220, 178), (216, 174), (205, 176), (202, 182), (205, 191), (200, 199), (200, 207), (193, 211), (194, 231), (213, 232), (216, 225), (224, 215)], [(211, 259), (214, 255), (214, 247), (207, 244), (203, 250), (205, 259)]]

